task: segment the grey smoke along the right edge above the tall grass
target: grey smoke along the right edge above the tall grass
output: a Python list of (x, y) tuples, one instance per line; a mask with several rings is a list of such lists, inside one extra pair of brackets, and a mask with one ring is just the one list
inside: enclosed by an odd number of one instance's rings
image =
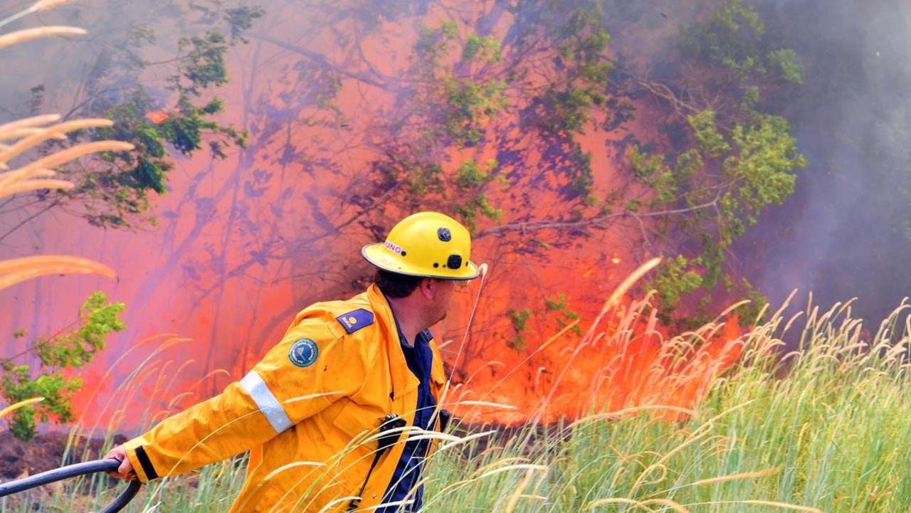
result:
[(770, 32), (804, 60), (782, 113), (810, 167), (737, 247), (773, 303), (795, 288), (823, 306), (857, 297), (877, 321), (911, 296), (911, 4), (760, 0)]

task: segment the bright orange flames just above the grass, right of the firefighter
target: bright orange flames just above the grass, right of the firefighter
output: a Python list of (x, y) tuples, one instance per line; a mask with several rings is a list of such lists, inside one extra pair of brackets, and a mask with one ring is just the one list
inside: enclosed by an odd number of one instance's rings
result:
[[(640, 405), (691, 408), (740, 357), (736, 315), (671, 338), (658, 325), (655, 309), (644, 313), (647, 303), (624, 303), (591, 336), (574, 339), (569, 330), (575, 323), (570, 324), (526, 361), (476, 366), (466, 383), (455, 385), (447, 399), (450, 409), (470, 423), (515, 425)], [(510, 407), (502, 411), (476, 402)]]

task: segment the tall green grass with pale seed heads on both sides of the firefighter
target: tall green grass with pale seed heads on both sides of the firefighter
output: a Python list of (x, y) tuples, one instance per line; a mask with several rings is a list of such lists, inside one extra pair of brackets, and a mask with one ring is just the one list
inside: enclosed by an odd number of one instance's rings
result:
[[(911, 510), (906, 310), (873, 334), (849, 305), (776, 314), (743, 335), (741, 359), (691, 409), (592, 405), (589, 416), (548, 426), (456, 426), (425, 474), (425, 510)], [(790, 351), (786, 326), (799, 340)], [(165, 479), (129, 511), (224, 511), (243, 463)], [(26, 513), (35, 502), (97, 510), (117, 491), (101, 478), (90, 486), (0, 502), (0, 513)]]

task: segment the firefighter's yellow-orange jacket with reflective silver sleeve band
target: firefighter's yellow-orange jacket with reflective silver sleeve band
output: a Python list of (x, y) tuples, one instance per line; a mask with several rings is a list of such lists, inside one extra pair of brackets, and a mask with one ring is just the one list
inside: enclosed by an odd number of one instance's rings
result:
[[(433, 353), (431, 393), (445, 384)], [(343, 511), (374, 460), (384, 416), (412, 426), (419, 383), (405, 362), (389, 303), (376, 285), (298, 313), (281, 342), (240, 382), (125, 444), (140, 480), (173, 476), (250, 450), (230, 513)], [(439, 426), (438, 420), (434, 426)], [(380, 503), (406, 435), (384, 452), (358, 508)], [(352, 440), (356, 439), (354, 443)]]

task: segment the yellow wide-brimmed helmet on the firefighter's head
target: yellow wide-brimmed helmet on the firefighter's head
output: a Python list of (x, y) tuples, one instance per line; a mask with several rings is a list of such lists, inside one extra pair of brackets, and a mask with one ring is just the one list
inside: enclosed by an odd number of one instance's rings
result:
[(418, 212), (399, 221), (384, 242), (367, 244), (363, 258), (389, 272), (473, 280), (479, 274), (471, 262), (471, 234), (453, 218), (439, 212)]

